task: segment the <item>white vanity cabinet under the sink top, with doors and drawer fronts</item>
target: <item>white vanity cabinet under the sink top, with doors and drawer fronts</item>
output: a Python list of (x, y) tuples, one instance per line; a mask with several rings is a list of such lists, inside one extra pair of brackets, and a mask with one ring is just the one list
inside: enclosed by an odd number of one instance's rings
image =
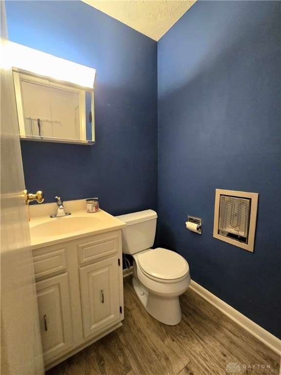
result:
[(123, 319), (121, 230), (33, 249), (46, 369)]

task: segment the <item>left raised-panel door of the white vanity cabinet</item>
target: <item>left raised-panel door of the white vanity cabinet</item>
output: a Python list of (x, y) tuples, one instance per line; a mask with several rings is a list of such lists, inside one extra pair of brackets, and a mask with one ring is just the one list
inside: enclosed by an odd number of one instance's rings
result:
[(67, 272), (36, 283), (44, 360), (72, 345)]

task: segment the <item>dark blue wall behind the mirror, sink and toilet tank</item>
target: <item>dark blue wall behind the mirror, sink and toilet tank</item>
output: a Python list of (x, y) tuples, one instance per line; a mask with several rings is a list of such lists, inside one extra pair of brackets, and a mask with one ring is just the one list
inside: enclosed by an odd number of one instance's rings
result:
[(81, 1), (6, 1), (13, 42), (97, 69), (96, 145), (22, 141), (45, 202), (98, 196), (113, 215), (157, 209), (157, 42)]

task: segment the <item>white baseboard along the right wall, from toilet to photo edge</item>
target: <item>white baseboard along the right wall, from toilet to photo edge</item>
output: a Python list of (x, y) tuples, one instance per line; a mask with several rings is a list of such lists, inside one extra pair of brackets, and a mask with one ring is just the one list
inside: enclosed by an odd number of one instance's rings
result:
[(223, 302), (220, 298), (216, 297), (211, 292), (208, 292), (201, 285), (191, 280), (189, 288), (199, 294), (211, 305), (223, 312), (226, 316), (232, 319), (235, 323), (239, 324), (244, 330), (251, 333), (268, 348), (272, 349), (277, 354), (281, 355), (281, 340), (275, 337), (272, 333), (267, 332), (265, 329), (254, 323), (241, 312), (235, 310), (227, 303)]

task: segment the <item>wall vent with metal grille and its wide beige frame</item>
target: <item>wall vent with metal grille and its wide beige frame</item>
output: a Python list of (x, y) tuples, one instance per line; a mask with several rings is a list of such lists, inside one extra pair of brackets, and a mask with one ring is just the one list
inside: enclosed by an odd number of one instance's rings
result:
[(216, 189), (215, 238), (253, 252), (258, 193)]

